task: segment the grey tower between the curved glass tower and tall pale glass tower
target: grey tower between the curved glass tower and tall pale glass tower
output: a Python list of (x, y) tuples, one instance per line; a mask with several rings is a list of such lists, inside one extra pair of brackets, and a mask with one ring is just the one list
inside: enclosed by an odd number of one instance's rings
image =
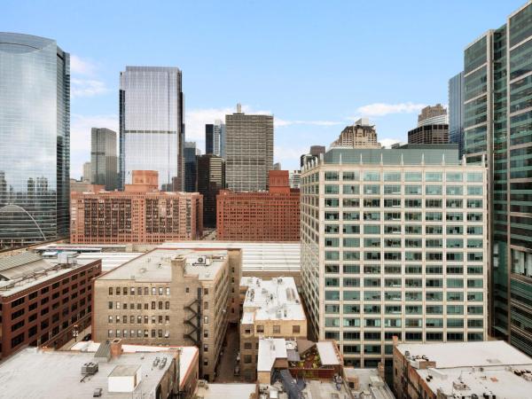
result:
[(90, 131), (91, 184), (105, 185), (113, 191), (116, 184), (116, 132), (110, 129), (92, 128)]

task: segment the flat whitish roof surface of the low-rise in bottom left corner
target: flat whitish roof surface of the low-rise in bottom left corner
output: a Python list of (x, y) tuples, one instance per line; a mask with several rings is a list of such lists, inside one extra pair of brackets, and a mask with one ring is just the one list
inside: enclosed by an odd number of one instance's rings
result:
[[(188, 348), (188, 347), (187, 347)], [(21, 350), (0, 364), (0, 396), (24, 398), (78, 398), (92, 397), (95, 389), (102, 389), (101, 397), (130, 398), (140, 395), (155, 395), (160, 379), (167, 372), (176, 348), (158, 348), (157, 352), (144, 351), (139, 347), (135, 352), (126, 352), (114, 357), (109, 362), (99, 362), (98, 372), (93, 375), (82, 375), (82, 365), (95, 362), (94, 353), (90, 351), (49, 351), (37, 348)], [(187, 349), (186, 353), (197, 351)], [(168, 354), (168, 356), (167, 356)], [(159, 357), (167, 357), (162, 367), (153, 367)], [(184, 356), (185, 357), (185, 356)], [(182, 357), (182, 369), (191, 367), (192, 362)], [(190, 356), (189, 356), (190, 357)], [(192, 357), (191, 357), (192, 359)], [(184, 364), (184, 365), (183, 365)], [(142, 379), (133, 393), (109, 392), (107, 379), (115, 374), (130, 375), (135, 369), (141, 368)], [(84, 378), (83, 378), (84, 377)], [(24, 381), (20, 384), (20, 381)]]

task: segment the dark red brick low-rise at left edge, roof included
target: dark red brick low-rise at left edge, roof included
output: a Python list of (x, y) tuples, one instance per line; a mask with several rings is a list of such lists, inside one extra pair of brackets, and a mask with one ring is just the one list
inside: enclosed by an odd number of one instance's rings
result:
[(90, 325), (91, 280), (101, 261), (23, 253), (0, 259), (0, 359), (20, 348), (59, 348)]

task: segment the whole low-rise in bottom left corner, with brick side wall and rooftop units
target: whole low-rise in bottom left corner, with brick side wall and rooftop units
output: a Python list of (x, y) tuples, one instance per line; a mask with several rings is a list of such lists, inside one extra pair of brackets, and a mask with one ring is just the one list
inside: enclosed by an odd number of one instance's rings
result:
[(0, 396), (189, 399), (196, 393), (198, 348), (80, 344), (76, 351), (27, 348), (12, 356), (0, 364)]

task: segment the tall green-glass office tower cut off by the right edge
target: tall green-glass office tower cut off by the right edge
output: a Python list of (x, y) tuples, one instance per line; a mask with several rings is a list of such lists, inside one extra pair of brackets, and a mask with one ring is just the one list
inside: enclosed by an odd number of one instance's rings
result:
[(487, 154), (492, 335), (532, 354), (532, 2), (465, 48), (464, 153)]

